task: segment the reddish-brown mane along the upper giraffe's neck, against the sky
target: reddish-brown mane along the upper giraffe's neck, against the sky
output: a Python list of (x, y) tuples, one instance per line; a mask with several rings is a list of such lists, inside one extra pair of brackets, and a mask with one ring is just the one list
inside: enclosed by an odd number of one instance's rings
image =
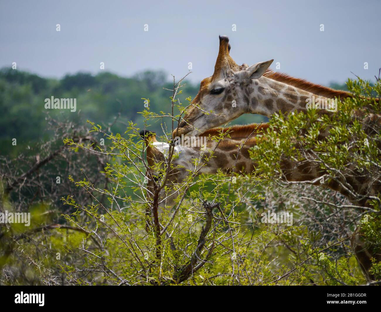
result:
[(316, 95), (324, 96), (326, 98), (347, 98), (352, 96), (351, 93), (347, 91), (334, 90), (326, 86), (318, 85), (316, 83), (309, 82), (305, 79), (295, 78), (287, 74), (280, 72), (274, 72), (270, 69), (267, 69), (263, 74), (264, 77), (283, 82), (287, 85), (294, 86), (304, 91), (314, 93)]

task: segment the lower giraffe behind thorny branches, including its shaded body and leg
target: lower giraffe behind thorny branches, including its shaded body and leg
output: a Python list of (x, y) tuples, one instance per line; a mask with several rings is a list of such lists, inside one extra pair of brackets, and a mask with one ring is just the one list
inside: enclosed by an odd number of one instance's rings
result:
[[(205, 138), (217, 136), (220, 133), (224, 134), (224, 138), (215, 141), (205, 139), (203, 142), (205, 146), (176, 146), (175, 152), (178, 158), (172, 160), (173, 169), (170, 173), (168, 186), (170, 189), (176, 189), (176, 186), (181, 185), (181, 182), (187, 177), (189, 171), (197, 172), (199, 174), (216, 174), (218, 170), (223, 170), (226, 174), (233, 172), (239, 174), (249, 174), (255, 170), (255, 160), (250, 158), (249, 149), (261, 140), (266, 139), (263, 135), (268, 131), (269, 125), (265, 124), (251, 124), (245, 126), (231, 126), (228, 128), (213, 128), (201, 134)], [(229, 134), (229, 137), (226, 135)], [(150, 168), (153, 168), (156, 163), (166, 163), (166, 153), (170, 146), (165, 142), (158, 142), (154, 133), (141, 133), (144, 137), (147, 146), (147, 162)], [(203, 163), (203, 159), (205, 162)], [(195, 166), (194, 160), (199, 161), (199, 167)], [(327, 174), (326, 171), (320, 169), (319, 162), (314, 158), (314, 155), (306, 154), (306, 159), (300, 162), (291, 161), (283, 157), (281, 159), (282, 179), (290, 182), (307, 182), (315, 186), (327, 187), (331, 190), (341, 193), (346, 196), (352, 203), (359, 205), (356, 198), (351, 196), (345, 186), (345, 179), (352, 174), (351, 170), (344, 171), (341, 178), (327, 179), (321, 182), (321, 178)], [(155, 176), (155, 174), (152, 174)], [(155, 177), (158, 179), (157, 177)], [(361, 194), (364, 192), (364, 184), (354, 184), (352, 191)], [(148, 185), (152, 187), (152, 183)], [(176, 189), (170, 196), (168, 202), (181, 194), (181, 189)], [(374, 190), (376, 194), (376, 190)], [(362, 203), (365, 205), (365, 203)], [(375, 279), (374, 275), (369, 273), (371, 267), (371, 259), (381, 261), (381, 252), (373, 250), (367, 243), (364, 242), (358, 231), (355, 231), (351, 238), (351, 246), (354, 250), (355, 256), (359, 263), (360, 268), (368, 282)]]

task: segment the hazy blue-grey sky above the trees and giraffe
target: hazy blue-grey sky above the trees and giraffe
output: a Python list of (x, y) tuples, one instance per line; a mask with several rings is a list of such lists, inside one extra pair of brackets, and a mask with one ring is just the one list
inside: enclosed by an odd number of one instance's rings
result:
[(123, 76), (164, 69), (179, 78), (192, 62), (190, 78), (199, 81), (213, 74), (221, 34), (237, 64), (274, 59), (272, 69), (280, 62), (281, 72), (323, 84), (353, 78), (351, 71), (374, 79), (380, 11), (380, 0), (0, 0), (0, 67), (16, 62), (19, 70), (62, 77), (95, 74), (104, 62)]

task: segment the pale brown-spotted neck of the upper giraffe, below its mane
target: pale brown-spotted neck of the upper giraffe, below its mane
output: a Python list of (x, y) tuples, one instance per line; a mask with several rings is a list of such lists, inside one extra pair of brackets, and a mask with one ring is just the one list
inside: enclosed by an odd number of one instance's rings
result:
[[(325, 97), (301, 90), (286, 83), (279, 82), (267, 77), (252, 79), (248, 90), (251, 91), (249, 97), (249, 111), (256, 112), (267, 117), (274, 113), (282, 112), (306, 112), (306, 104), (309, 101), (315, 102)], [(328, 110), (320, 109), (320, 114), (329, 114)]]

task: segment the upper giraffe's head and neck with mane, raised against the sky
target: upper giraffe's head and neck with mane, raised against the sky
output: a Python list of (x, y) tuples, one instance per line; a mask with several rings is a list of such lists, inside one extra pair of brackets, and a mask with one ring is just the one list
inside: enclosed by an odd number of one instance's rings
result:
[[(188, 108), (173, 137), (198, 136), (226, 124), (242, 114), (261, 114), (271, 117), (279, 111), (306, 111), (313, 100), (324, 103), (319, 114), (332, 114), (328, 99), (351, 96), (303, 79), (269, 70), (273, 59), (252, 66), (238, 66), (230, 56), (229, 38), (219, 36), (219, 52), (211, 77), (200, 83), (199, 93)], [(331, 109), (330, 109), (331, 108)]]

